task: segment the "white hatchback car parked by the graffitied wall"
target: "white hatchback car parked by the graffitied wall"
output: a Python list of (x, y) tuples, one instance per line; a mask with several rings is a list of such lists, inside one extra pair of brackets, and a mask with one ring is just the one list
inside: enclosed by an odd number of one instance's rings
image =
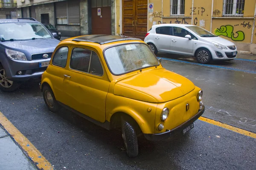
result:
[(215, 60), (232, 60), (237, 50), (233, 42), (204, 28), (187, 24), (159, 24), (148, 31), (144, 40), (157, 52), (196, 57), (203, 64)]

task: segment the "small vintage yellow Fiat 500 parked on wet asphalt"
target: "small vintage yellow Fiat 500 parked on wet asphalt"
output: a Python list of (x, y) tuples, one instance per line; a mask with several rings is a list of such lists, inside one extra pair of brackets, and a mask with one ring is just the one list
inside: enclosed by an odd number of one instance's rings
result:
[(137, 135), (161, 140), (185, 134), (204, 113), (201, 89), (163, 68), (140, 39), (73, 37), (52, 56), (40, 83), (49, 110), (64, 106), (108, 130), (122, 130), (130, 157), (138, 154)]

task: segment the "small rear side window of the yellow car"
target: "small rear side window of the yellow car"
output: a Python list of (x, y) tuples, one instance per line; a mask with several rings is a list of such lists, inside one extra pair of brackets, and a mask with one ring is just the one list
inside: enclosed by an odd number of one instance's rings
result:
[(67, 64), (67, 54), (68, 54), (68, 48), (67, 47), (61, 47), (59, 48), (53, 58), (52, 58), (52, 64), (57, 65), (59, 67), (66, 67)]

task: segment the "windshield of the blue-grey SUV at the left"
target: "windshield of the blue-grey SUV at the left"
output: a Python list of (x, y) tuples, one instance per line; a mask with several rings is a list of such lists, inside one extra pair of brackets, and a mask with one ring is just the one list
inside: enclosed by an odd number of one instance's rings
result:
[(26, 40), (32, 38), (51, 38), (41, 23), (2, 23), (0, 24), (0, 39)]

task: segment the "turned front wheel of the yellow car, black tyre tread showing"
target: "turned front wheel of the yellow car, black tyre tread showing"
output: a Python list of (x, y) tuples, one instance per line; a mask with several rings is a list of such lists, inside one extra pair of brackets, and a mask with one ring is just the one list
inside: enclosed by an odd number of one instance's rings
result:
[(134, 126), (122, 117), (122, 138), (125, 144), (126, 153), (129, 157), (138, 155), (138, 139)]

